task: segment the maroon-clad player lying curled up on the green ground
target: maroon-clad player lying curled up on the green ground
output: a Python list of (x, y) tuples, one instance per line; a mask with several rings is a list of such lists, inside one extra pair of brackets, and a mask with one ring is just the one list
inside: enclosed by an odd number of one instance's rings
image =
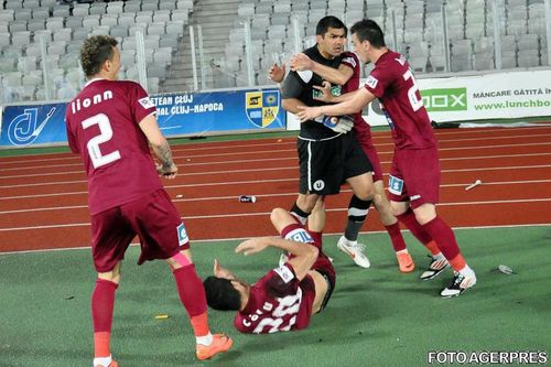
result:
[(282, 208), (273, 209), (270, 219), (281, 237), (246, 240), (237, 246), (236, 252), (247, 256), (274, 247), (291, 253), (285, 263), (248, 284), (215, 260), (214, 277), (204, 282), (208, 305), (237, 311), (234, 325), (241, 333), (305, 328), (312, 315), (326, 306), (335, 288), (335, 270), (322, 250), (325, 226), (322, 198), (309, 217), (307, 229)]

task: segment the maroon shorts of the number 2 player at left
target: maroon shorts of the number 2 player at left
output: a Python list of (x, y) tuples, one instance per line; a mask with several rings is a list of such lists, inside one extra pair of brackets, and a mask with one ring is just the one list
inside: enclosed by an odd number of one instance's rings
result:
[(136, 235), (140, 238), (138, 263), (168, 259), (190, 248), (184, 224), (164, 190), (158, 190), (91, 216), (91, 255), (98, 272), (111, 271), (125, 258)]

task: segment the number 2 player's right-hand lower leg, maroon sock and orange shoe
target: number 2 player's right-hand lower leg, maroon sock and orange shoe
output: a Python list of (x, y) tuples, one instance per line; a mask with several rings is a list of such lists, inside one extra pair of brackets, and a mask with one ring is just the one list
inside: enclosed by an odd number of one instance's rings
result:
[(190, 316), (195, 334), (197, 359), (209, 359), (218, 353), (227, 352), (233, 345), (231, 338), (224, 334), (210, 334), (205, 289), (195, 271), (191, 251), (182, 250), (165, 261), (172, 269), (180, 300)]

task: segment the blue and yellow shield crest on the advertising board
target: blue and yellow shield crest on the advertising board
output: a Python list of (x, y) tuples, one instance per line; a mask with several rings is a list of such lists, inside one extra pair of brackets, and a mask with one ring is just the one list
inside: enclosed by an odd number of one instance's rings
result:
[(259, 128), (270, 126), (278, 117), (279, 99), (279, 90), (246, 93), (247, 118)]

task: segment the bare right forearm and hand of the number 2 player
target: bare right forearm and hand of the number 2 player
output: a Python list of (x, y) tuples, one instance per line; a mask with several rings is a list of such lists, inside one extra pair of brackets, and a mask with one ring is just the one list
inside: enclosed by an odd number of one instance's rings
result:
[(161, 129), (159, 129), (156, 117), (154, 115), (145, 117), (140, 121), (140, 129), (151, 143), (153, 153), (161, 161), (161, 164), (156, 166), (159, 174), (166, 179), (174, 179), (177, 173), (177, 166), (172, 160), (172, 151), (166, 138), (164, 138)]

